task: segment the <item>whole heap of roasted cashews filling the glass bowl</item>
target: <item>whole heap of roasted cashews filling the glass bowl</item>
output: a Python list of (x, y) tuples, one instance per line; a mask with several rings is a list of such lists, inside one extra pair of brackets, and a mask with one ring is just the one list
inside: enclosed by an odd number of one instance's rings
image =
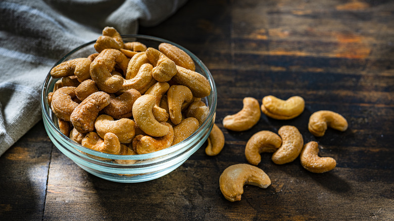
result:
[(209, 108), (201, 98), (211, 86), (179, 47), (124, 43), (106, 27), (94, 48), (87, 58), (51, 70), (59, 80), (48, 103), (71, 140), (109, 154), (151, 153), (183, 141), (206, 120)]

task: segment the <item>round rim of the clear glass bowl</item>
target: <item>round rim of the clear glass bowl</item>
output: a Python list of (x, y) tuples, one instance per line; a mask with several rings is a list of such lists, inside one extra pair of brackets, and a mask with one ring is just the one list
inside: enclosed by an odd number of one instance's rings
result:
[[(96, 157), (103, 157), (103, 158), (109, 158), (109, 159), (119, 159), (119, 160), (147, 160), (147, 159), (152, 159), (152, 158), (158, 158), (158, 157), (166, 156), (168, 154), (178, 152), (179, 150), (182, 150), (183, 148), (185, 150), (187, 150), (188, 149), (188, 148), (186, 148), (187, 145), (185, 145), (186, 142), (190, 142), (190, 140), (193, 139), (196, 134), (202, 134), (207, 127), (209, 127), (210, 125), (213, 125), (215, 123), (214, 121), (215, 121), (215, 112), (216, 112), (216, 106), (217, 106), (217, 91), (216, 91), (215, 81), (213, 79), (213, 76), (212, 76), (211, 72), (205, 66), (205, 64), (198, 57), (195, 56), (195, 54), (193, 54), (191, 51), (189, 51), (188, 49), (184, 48), (183, 46), (181, 46), (181, 45), (179, 45), (177, 43), (174, 43), (172, 41), (169, 41), (169, 40), (166, 40), (166, 39), (163, 39), (163, 38), (150, 36), (150, 35), (124, 34), (124, 35), (121, 35), (121, 36), (122, 36), (123, 39), (125, 39), (125, 38), (137, 38), (137, 39), (141, 38), (142, 39), (143, 38), (144, 40), (152, 40), (152, 41), (158, 41), (158, 42), (165, 42), (165, 43), (173, 44), (173, 45), (179, 47), (180, 49), (184, 50), (192, 58), (192, 60), (195, 63), (198, 63), (198, 65), (202, 69), (201, 71), (203, 71), (206, 74), (207, 80), (210, 83), (211, 94), (209, 96), (212, 95), (212, 97), (211, 97), (212, 105), (209, 106), (209, 114), (208, 114), (206, 120), (204, 121), (204, 123), (192, 135), (190, 135), (188, 138), (186, 138), (185, 140), (183, 140), (183, 141), (181, 141), (181, 142), (179, 142), (179, 143), (177, 143), (177, 144), (175, 144), (175, 145), (173, 145), (171, 147), (168, 147), (168, 148), (163, 149), (163, 150), (155, 151), (155, 152), (152, 152), (152, 153), (137, 154), (137, 155), (119, 155), (119, 154), (109, 154), (109, 153), (103, 153), (103, 152), (95, 151), (95, 150), (92, 150), (92, 149), (89, 149), (87, 147), (82, 146), (81, 144), (71, 140), (68, 136), (66, 136), (62, 132), (60, 132), (58, 127), (53, 122), (52, 117), (46, 111), (46, 108), (45, 108), (45, 104), (46, 104), (46, 106), (50, 107), (50, 105), (47, 103), (47, 94), (45, 94), (45, 91), (48, 90), (49, 82), (50, 82), (50, 80), (52, 78), (51, 70), (55, 66), (57, 66), (60, 63), (66, 61), (66, 59), (68, 57), (70, 57), (73, 53), (77, 52), (78, 50), (80, 50), (80, 49), (82, 49), (82, 48), (84, 48), (86, 46), (89, 46), (89, 45), (95, 43), (96, 40), (92, 40), (92, 41), (86, 42), (86, 43), (84, 43), (84, 44), (72, 49), (70, 52), (67, 52), (65, 54), (65, 56), (63, 56), (61, 59), (59, 59), (59, 61), (57, 61), (55, 63), (55, 65), (50, 69), (50, 71), (48, 72), (47, 76), (45, 77), (45, 80), (44, 80), (44, 82), (42, 84), (42, 88), (41, 88), (41, 102), (40, 102), (40, 104), (41, 104), (41, 112), (42, 112), (43, 118), (45, 118), (45, 120), (49, 123), (49, 125), (51, 126), (52, 129), (55, 129), (55, 130), (52, 130), (52, 132), (56, 133), (56, 135), (58, 137), (61, 137), (64, 141), (67, 141), (68, 144), (73, 146), (72, 149), (75, 148), (75, 149), (77, 149), (77, 150), (79, 150), (79, 151), (81, 151), (83, 153), (87, 153), (87, 154), (90, 154), (90, 155), (93, 155), (93, 156), (96, 156)], [(210, 123), (211, 119), (213, 121), (212, 124)], [(212, 127), (209, 128), (209, 130), (211, 130), (211, 129), (212, 129)], [(67, 149), (70, 150), (69, 148), (67, 148)], [(77, 155), (80, 155), (81, 153), (79, 151), (76, 151), (75, 153)], [(88, 156), (84, 155), (83, 157), (86, 158)], [(89, 157), (89, 158), (91, 158), (91, 157)], [(91, 159), (94, 160), (94, 161), (98, 161), (98, 162), (102, 162), (103, 161), (103, 160), (95, 159), (95, 158), (91, 158)], [(122, 165), (122, 164), (119, 164), (119, 165)]]

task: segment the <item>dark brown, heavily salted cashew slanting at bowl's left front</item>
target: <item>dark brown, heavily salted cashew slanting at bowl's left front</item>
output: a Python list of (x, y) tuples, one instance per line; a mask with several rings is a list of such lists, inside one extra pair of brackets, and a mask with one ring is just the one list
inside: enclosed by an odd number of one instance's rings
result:
[(80, 133), (88, 133), (94, 130), (94, 122), (104, 107), (110, 103), (110, 95), (98, 91), (84, 99), (71, 113), (70, 121)]

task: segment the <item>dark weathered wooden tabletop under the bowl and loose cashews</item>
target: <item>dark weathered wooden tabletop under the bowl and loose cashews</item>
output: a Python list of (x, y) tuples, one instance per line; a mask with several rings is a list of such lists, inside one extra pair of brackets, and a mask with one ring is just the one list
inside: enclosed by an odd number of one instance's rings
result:
[[(170, 174), (144, 183), (106, 181), (80, 169), (50, 141), (42, 121), (0, 157), (2, 220), (394, 220), (394, 2), (190, 0), (140, 34), (176, 42), (210, 69), (218, 89), (216, 123), (225, 135), (214, 157), (200, 148)], [(244, 132), (222, 120), (246, 96), (304, 97), (298, 118), (262, 115)], [(346, 132), (309, 133), (321, 109), (343, 115)], [(219, 176), (247, 163), (256, 132), (296, 126), (304, 141), (336, 159), (324, 174), (299, 158), (276, 165), (262, 154), (267, 189), (245, 185), (241, 201), (220, 192)]]

